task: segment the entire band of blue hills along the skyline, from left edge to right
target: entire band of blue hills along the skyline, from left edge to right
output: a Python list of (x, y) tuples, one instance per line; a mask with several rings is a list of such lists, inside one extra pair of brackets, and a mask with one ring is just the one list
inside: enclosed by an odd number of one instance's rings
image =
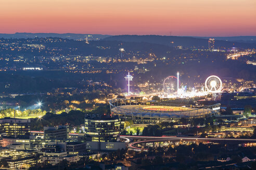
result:
[(165, 46), (183, 46), (183, 47), (208, 47), (208, 39), (215, 38), (215, 48), (220, 47), (241, 47), (256, 48), (256, 36), (236, 36), (236, 37), (189, 37), (189, 36), (160, 36), (160, 35), (102, 35), (102, 34), (57, 34), (57, 33), (15, 33), (0, 34), (0, 38), (45, 38), (58, 37), (73, 40), (106, 40), (106, 41), (124, 41), (137, 43), (151, 43)]

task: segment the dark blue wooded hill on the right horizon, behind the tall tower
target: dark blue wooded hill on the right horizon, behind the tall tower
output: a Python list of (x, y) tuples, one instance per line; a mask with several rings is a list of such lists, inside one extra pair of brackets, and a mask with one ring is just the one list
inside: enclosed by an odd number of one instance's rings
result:
[[(161, 44), (167, 46), (183, 46), (183, 47), (208, 47), (207, 38), (180, 37), (180, 36), (160, 36), (160, 35), (117, 35), (104, 38), (104, 40), (126, 41), (126, 42), (146, 42), (153, 44)], [(232, 41), (216, 40), (215, 48), (220, 47), (241, 47), (255, 48), (256, 44), (239, 43)]]

